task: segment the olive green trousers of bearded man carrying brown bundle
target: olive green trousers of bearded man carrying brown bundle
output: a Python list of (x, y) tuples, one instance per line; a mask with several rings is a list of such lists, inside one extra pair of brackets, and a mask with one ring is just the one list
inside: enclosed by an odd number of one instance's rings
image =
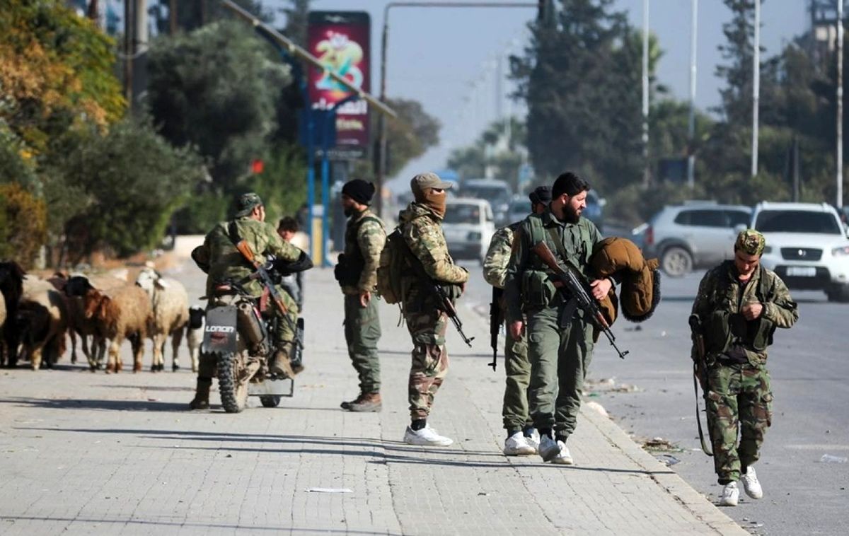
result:
[(560, 327), (560, 304), (528, 313), (531, 419), (560, 438), (575, 431), (583, 382), (593, 359), (593, 326), (576, 313)]

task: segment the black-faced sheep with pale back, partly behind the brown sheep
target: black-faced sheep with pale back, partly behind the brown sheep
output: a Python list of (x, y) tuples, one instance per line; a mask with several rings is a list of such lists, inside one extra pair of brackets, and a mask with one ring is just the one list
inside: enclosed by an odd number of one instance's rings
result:
[[(51, 280), (53, 282), (53, 280)], [(55, 282), (53, 283), (56, 284)], [(82, 342), (82, 353), (88, 360), (91, 371), (96, 371), (103, 366), (106, 353), (106, 338), (103, 333), (98, 332), (98, 324), (92, 319), (87, 319), (83, 297), (89, 288), (98, 288), (104, 292), (110, 292), (115, 288), (127, 287), (129, 283), (113, 276), (82, 276), (71, 275), (64, 285), (65, 296), (68, 297), (69, 328), (80, 336)], [(92, 338), (92, 348), (89, 351), (88, 337)], [(71, 337), (71, 363), (75, 362), (76, 344)]]

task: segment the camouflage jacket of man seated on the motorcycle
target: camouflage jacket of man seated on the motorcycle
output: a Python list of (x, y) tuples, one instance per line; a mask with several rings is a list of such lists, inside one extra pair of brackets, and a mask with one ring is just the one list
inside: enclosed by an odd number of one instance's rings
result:
[[(206, 235), (203, 245), (194, 248), (192, 259), (206, 273), (206, 295), (212, 295), (216, 282), (228, 279), (239, 280), (254, 272), (247, 260), (239, 253), (228, 234), (229, 221), (222, 221)], [(294, 262), (301, 255), (301, 250), (292, 244), (284, 242), (274, 227), (250, 217), (235, 220), (239, 237), (250, 245), (256, 260), (265, 263), (268, 254), (273, 254), (280, 260)], [(245, 284), (252, 296), (262, 293), (260, 282), (250, 281)]]

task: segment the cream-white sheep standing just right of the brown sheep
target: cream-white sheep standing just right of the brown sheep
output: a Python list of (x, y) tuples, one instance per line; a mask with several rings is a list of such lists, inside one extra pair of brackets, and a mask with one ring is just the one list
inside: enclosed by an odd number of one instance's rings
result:
[(183, 283), (163, 277), (153, 268), (144, 268), (136, 278), (136, 284), (148, 294), (154, 312), (154, 321), (148, 333), (154, 342), (154, 361), (151, 371), (165, 368), (165, 343), (171, 335), (173, 360), (171, 370), (180, 368), (178, 350), (183, 341), (183, 329), (188, 324), (188, 293)]

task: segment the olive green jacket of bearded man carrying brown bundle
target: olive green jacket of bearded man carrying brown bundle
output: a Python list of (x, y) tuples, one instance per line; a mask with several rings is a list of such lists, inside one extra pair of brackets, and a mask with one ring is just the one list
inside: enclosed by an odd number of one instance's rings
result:
[[(565, 249), (568, 259), (562, 259), (560, 248), (551, 235)], [(522, 320), (522, 305), (527, 304), (528, 297), (523, 295), (526, 289), (522, 288), (522, 280), (533, 279), (525, 276), (526, 272), (536, 272), (537, 282), (543, 282), (546, 286), (545, 292), (553, 296), (550, 306), (561, 303), (561, 293), (554, 289), (554, 283), (549, 282), (548, 267), (534, 254), (531, 249), (537, 242), (544, 241), (548, 244), (554, 257), (559, 260), (568, 260), (571, 265), (588, 277), (589, 258), (593, 254), (593, 246), (601, 242), (603, 237), (599, 229), (587, 218), (580, 218), (577, 223), (559, 221), (551, 209), (545, 209), (542, 214), (529, 215), (515, 231), (513, 239), (513, 253), (507, 265), (507, 273), (504, 281), (504, 300), (507, 304), (507, 321)], [(532, 275), (532, 274), (529, 274)], [(589, 277), (588, 277), (589, 278)], [(577, 314), (582, 314), (578, 311)]]

